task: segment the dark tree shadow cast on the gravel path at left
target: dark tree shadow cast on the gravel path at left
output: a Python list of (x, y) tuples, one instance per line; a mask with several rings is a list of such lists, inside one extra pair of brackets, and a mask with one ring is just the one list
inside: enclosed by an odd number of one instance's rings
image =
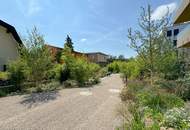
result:
[(60, 96), (58, 91), (32, 93), (30, 95), (24, 96), (23, 100), (20, 103), (28, 108), (32, 108), (40, 104), (55, 100), (58, 96)]

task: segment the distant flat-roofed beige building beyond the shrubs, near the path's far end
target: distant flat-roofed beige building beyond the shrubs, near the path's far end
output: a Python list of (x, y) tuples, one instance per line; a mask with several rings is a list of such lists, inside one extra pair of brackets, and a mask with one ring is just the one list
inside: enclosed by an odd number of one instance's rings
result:
[(101, 53), (101, 52), (94, 52), (94, 53), (86, 53), (85, 54), (90, 62), (94, 62), (97, 64), (107, 64), (108, 59), (110, 58), (109, 55)]

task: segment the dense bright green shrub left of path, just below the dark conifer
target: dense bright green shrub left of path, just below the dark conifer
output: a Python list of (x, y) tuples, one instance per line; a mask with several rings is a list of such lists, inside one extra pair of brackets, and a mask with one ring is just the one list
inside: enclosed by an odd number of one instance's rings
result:
[(75, 80), (79, 86), (84, 86), (90, 79), (93, 79), (92, 81), (98, 81), (99, 65), (89, 63), (85, 57), (75, 57), (71, 49), (67, 46), (64, 48), (62, 59), (65, 64), (62, 77), (65, 77), (65, 80)]

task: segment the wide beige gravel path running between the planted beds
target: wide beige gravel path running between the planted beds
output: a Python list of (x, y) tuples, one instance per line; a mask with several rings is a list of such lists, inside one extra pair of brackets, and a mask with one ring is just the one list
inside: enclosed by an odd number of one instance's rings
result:
[(0, 99), (0, 130), (114, 130), (123, 86), (119, 75), (93, 88)]

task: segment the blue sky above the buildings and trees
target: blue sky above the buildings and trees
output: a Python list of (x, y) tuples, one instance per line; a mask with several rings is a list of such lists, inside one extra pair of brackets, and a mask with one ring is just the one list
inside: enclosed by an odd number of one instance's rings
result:
[(23, 36), (37, 26), (46, 43), (63, 47), (70, 35), (80, 52), (135, 56), (128, 28), (138, 29), (141, 7), (152, 6), (152, 18), (175, 12), (180, 0), (1, 0), (0, 19)]

